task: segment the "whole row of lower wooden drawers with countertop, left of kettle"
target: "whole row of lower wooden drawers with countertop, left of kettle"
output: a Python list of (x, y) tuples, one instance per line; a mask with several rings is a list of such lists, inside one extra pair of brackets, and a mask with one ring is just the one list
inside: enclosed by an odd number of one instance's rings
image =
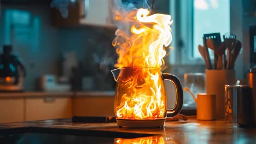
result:
[(0, 95), (0, 123), (73, 116), (114, 116), (114, 91)]

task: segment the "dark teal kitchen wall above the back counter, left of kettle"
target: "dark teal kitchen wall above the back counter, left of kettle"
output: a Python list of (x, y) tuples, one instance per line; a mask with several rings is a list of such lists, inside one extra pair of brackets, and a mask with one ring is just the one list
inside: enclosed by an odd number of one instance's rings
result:
[[(12, 44), (14, 52), (17, 52), (25, 62), (26, 91), (34, 91), (36, 80), (44, 74), (60, 75), (62, 56), (65, 52), (75, 52), (86, 75), (86, 71), (92, 71), (88, 65), (92, 65), (90, 62), (93, 60), (86, 59), (87, 56), (91, 56), (95, 51), (98, 58), (96, 64), (99, 65), (103, 61), (100, 59), (103, 53), (107, 53), (107, 50), (114, 51), (110, 47), (114, 29), (90, 26), (53, 27), (49, 5), (1, 5), (0, 21), (0, 47), (2, 48), (4, 44)], [(2, 49), (0, 50), (2, 53)], [(104, 73), (99, 71), (100, 75)], [(109, 75), (105, 75), (98, 77), (106, 81)]]

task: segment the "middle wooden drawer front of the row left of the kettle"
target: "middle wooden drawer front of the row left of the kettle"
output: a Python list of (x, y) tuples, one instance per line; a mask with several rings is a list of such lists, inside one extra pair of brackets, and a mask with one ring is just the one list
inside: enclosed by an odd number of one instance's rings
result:
[(26, 121), (71, 118), (72, 116), (72, 97), (44, 97), (26, 99)]

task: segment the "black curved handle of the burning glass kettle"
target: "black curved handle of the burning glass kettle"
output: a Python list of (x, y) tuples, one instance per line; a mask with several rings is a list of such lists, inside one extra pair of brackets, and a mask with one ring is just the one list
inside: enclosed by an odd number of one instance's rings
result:
[(181, 112), (183, 105), (183, 89), (178, 77), (171, 74), (162, 74), (164, 80), (170, 80), (176, 90), (176, 103), (171, 110), (167, 110), (167, 117), (174, 117)]

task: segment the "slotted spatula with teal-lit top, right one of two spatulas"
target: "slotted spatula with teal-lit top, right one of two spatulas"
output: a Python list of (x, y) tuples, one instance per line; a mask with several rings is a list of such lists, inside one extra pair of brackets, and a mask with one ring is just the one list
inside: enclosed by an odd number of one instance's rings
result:
[(228, 59), (226, 60), (226, 63), (224, 63), (224, 67), (226, 69), (231, 69), (231, 51), (234, 48), (234, 44), (236, 43), (236, 35), (227, 33), (223, 35), (223, 39), (224, 39), (225, 47), (226, 49), (229, 50), (229, 54), (230, 54), (228, 55)]

